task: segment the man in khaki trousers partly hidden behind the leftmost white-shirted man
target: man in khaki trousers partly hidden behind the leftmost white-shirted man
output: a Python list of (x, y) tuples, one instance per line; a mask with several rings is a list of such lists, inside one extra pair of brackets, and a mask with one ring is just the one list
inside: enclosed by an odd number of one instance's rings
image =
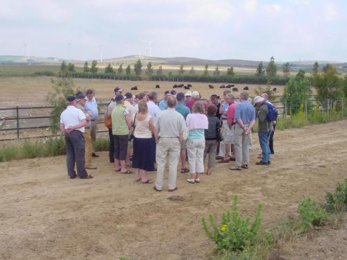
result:
[(96, 166), (92, 163), (92, 137), (90, 136), (90, 120), (91, 116), (88, 110), (85, 108), (85, 96), (83, 93), (79, 93), (77, 96), (77, 105), (76, 107), (85, 114), (87, 119), (87, 125), (85, 125), (85, 132), (83, 137), (85, 138), (85, 168), (87, 169), (96, 169)]

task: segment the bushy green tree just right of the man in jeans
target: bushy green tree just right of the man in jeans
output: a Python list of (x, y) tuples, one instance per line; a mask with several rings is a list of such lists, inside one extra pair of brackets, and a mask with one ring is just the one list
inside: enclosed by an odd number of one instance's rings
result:
[(285, 86), (281, 102), (287, 103), (287, 111), (295, 114), (302, 109), (305, 101), (310, 100), (311, 94), (310, 81), (305, 77), (305, 71), (299, 71)]

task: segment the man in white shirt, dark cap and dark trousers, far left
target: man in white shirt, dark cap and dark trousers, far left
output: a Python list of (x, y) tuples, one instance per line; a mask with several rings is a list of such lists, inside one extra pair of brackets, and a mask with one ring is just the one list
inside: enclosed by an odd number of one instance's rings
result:
[(76, 98), (67, 97), (67, 109), (60, 114), (60, 130), (65, 133), (67, 148), (67, 173), (70, 179), (76, 177), (75, 161), (77, 166), (77, 175), (81, 179), (90, 179), (93, 176), (85, 171), (85, 132), (87, 120), (85, 114), (76, 107)]

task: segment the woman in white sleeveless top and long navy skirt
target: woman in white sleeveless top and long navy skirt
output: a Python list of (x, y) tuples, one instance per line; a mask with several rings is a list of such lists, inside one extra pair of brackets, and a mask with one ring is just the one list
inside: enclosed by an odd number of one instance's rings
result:
[(147, 171), (155, 171), (153, 153), (155, 143), (152, 135), (154, 125), (152, 116), (148, 114), (146, 101), (138, 103), (139, 111), (134, 118), (133, 168), (135, 168), (136, 182), (153, 183), (147, 176)]

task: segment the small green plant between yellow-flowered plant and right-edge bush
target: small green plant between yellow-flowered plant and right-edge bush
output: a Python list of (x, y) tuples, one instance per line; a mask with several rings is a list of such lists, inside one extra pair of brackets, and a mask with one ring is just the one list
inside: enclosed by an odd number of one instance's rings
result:
[(299, 212), (304, 228), (320, 227), (328, 219), (326, 211), (316, 200), (305, 197), (299, 202)]

